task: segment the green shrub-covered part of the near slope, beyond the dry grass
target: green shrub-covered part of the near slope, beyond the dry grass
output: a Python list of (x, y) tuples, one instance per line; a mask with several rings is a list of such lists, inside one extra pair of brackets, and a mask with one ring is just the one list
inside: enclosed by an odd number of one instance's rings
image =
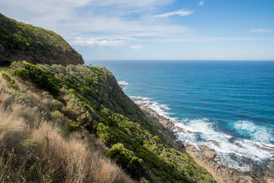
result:
[[(32, 108), (40, 106), (34, 116), (44, 115), (51, 125), (59, 124), (64, 137), (77, 132), (88, 143), (91, 140), (87, 135), (100, 137), (105, 146), (97, 149), (103, 149), (102, 154), (136, 181), (215, 182), (206, 169), (175, 150), (174, 141), (142, 114), (104, 67), (14, 62), (12, 71), (3, 78), (5, 88), (17, 93), (12, 95), (16, 101), (34, 105)], [(0, 91), (1, 95), (7, 93)], [(45, 96), (46, 91), (51, 97), (28, 101), (21, 97), (23, 91), (38, 96)], [(8, 110), (10, 103), (2, 103), (2, 108)], [(25, 119), (36, 123), (35, 118)], [(36, 128), (40, 126), (38, 123)], [(47, 147), (48, 141), (45, 143)]]

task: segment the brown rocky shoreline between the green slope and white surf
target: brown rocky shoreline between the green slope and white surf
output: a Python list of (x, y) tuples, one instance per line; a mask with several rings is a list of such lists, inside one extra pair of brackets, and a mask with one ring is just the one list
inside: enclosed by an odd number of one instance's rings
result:
[[(171, 136), (174, 141), (177, 140), (177, 136), (174, 134), (173, 130), (184, 132), (184, 129), (175, 126), (173, 121), (160, 116), (155, 110), (147, 107), (144, 103), (138, 103), (138, 106), (151, 121), (158, 125), (166, 134)], [(211, 142), (218, 145), (216, 141)], [(274, 173), (270, 173), (270, 175), (254, 175), (252, 172), (242, 172), (239, 169), (236, 170), (225, 167), (222, 163), (217, 162), (215, 158), (216, 151), (206, 145), (201, 145), (201, 150), (197, 150), (194, 145), (188, 143), (183, 144), (182, 141), (176, 141), (176, 147), (177, 150), (187, 154), (201, 167), (207, 169), (208, 172), (212, 174), (213, 178), (219, 182), (274, 182)]]

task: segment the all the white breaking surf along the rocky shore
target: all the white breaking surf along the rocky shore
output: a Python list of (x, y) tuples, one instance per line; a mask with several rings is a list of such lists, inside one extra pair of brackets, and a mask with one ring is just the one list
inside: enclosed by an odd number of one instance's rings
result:
[(200, 145), (206, 145), (216, 151), (215, 160), (226, 167), (251, 171), (253, 164), (260, 164), (265, 160), (274, 160), (274, 145), (271, 132), (266, 127), (261, 127), (251, 121), (236, 121), (233, 124), (235, 132), (241, 135), (249, 134), (251, 140), (236, 138), (232, 134), (222, 132), (217, 123), (208, 118), (182, 119), (173, 117), (167, 105), (153, 101), (148, 97), (130, 97), (135, 103), (142, 103), (162, 117), (166, 117), (175, 123), (176, 127), (184, 131), (174, 130), (177, 140), (190, 143), (200, 149)]

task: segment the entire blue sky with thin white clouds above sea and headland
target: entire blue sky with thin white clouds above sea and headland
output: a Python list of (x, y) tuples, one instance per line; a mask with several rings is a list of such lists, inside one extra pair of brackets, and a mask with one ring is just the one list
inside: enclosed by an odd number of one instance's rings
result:
[(0, 0), (84, 60), (274, 60), (273, 0)]

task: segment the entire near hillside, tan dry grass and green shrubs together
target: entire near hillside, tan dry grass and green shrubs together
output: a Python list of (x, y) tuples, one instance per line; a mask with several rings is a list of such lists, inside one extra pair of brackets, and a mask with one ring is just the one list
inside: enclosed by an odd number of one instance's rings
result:
[(0, 99), (0, 181), (215, 182), (104, 67), (14, 62)]

